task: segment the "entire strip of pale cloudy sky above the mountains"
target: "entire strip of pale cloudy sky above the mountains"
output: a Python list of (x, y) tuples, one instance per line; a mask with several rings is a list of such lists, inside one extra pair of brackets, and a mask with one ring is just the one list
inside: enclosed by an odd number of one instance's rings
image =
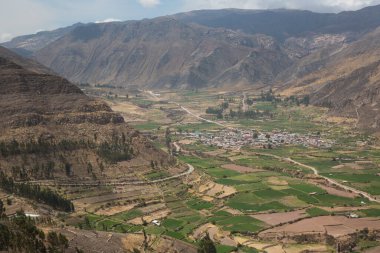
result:
[(0, 0), (0, 42), (77, 22), (136, 20), (197, 9), (357, 10), (380, 0)]

